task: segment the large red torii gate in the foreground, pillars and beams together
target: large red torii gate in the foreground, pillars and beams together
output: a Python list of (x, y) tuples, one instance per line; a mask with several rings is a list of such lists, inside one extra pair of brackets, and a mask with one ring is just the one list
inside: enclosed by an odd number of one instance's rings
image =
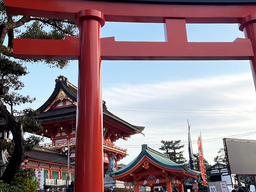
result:
[[(16, 58), (79, 60), (75, 192), (103, 192), (101, 60), (251, 60), (256, 84), (256, 0), (4, 1), (9, 14), (76, 20), (80, 28), (80, 38), (14, 40)], [(165, 23), (167, 41), (100, 38), (105, 21)], [(188, 42), (186, 23), (240, 23), (246, 38)]]

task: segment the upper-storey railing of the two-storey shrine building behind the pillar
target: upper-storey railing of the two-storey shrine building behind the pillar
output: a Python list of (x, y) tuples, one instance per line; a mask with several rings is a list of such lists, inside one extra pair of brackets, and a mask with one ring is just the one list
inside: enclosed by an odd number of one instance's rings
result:
[[(70, 146), (71, 145), (76, 145), (76, 140), (73, 139), (73, 140), (70, 140)], [(45, 148), (50, 148), (50, 149), (57, 149), (57, 148), (62, 148), (63, 146), (68, 146), (68, 142), (67, 141), (58, 141), (58, 142), (52, 142), (52, 143), (43, 143), (43, 144), (40, 144), (41, 147), (45, 147)], [(120, 148), (118, 146), (115, 146), (113, 144), (111, 144), (110, 142), (107, 142), (105, 140), (103, 140), (103, 147), (107, 147), (107, 148), (111, 148), (113, 150), (118, 150), (120, 152), (123, 152), (123, 153), (127, 153), (127, 149), (123, 149), (123, 148)]]

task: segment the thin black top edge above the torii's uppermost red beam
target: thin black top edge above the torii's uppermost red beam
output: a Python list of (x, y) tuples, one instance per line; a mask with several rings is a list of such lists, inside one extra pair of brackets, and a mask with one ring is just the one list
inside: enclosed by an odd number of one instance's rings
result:
[(256, 0), (98, 0), (105, 2), (154, 3), (154, 4), (255, 4)]

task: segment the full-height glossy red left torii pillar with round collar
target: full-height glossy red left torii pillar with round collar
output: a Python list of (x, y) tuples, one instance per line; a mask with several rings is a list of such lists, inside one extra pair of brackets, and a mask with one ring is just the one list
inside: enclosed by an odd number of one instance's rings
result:
[(76, 13), (80, 29), (74, 192), (103, 192), (102, 67), (98, 10)]

